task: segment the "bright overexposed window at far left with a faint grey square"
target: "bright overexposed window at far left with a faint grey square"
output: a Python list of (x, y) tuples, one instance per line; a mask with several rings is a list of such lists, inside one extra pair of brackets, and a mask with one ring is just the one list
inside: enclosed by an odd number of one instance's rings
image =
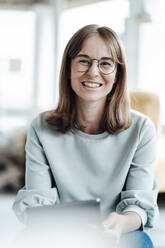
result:
[(19, 125), (33, 107), (34, 24), (32, 11), (0, 11), (1, 128), (7, 119)]

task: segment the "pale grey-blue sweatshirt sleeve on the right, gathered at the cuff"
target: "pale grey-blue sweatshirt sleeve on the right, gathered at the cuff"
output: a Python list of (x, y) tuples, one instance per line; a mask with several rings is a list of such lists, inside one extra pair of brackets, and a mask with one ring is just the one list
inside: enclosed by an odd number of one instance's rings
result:
[(154, 226), (159, 216), (157, 206), (158, 185), (154, 178), (156, 161), (156, 131), (150, 119), (146, 119), (139, 135), (139, 144), (132, 159), (118, 213), (134, 211), (142, 219), (142, 229)]

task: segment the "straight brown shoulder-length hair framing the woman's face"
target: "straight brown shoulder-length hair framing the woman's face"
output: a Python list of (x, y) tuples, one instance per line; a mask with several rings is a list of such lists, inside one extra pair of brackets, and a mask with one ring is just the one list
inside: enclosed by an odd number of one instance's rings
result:
[[(104, 39), (117, 65), (115, 84), (107, 95), (100, 128), (102, 131), (115, 134), (129, 128), (131, 123), (126, 84), (125, 52), (122, 43), (112, 29), (92, 24), (78, 30), (64, 50), (59, 77), (58, 106), (46, 118), (46, 121), (61, 133), (73, 131), (73, 128), (77, 126), (75, 93), (71, 88), (70, 80), (71, 61), (80, 52), (84, 40), (91, 34), (98, 34)], [(81, 129), (81, 127), (79, 128)]]

